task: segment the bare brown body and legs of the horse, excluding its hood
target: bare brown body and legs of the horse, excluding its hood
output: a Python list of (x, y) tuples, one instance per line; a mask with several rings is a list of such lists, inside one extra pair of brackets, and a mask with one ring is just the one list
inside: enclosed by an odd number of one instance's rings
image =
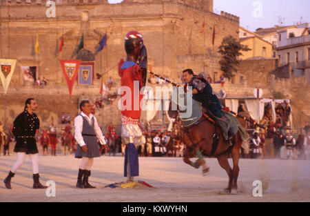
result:
[[(178, 115), (178, 111), (171, 109), (172, 103), (170, 102), (168, 115), (169, 117), (175, 119)], [(240, 112), (240, 115), (247, 117), (246, 112)], [(246, 126), (244, 119), (238, 118), (242, 127)], [(216, 149), (212, 150), (214, 134), (218, 133), (218, 146)], [(205, 165), (205, 159), (202, 155), (215, 156), (218, 159), (220, 166), (226, 170), (229, 176), (228, 187), (225, 188), (221, 193), (225, 194), (237, 194), (237, 179), (239, 175), (239, 153), (240, 147), (242, 145), (242, 139), (240, 136), (240, 131), (238, 130), (236, 137), (234, 138), (234, 145), (229, 147), (229, 144), (223, 138), (223, 133), (220, 128), (214, 126), (211, 121), (209, 121), (204, 116), (201, 117), (194, 126), (189, 126), (183, 128), (183, 142), (186, 145), (186, 153), (183, 160), (186, 164), (199, 168), (203, 165), (203, 175), (209, 173), (209, 168)], [(231, 157), (233, 159), (233, 168), (229, 166), (228, 153), (231, 152)], [(200, 155), (202, 154), (202, 155)], [(197, 157), (196, 162), (192, 162), (190, 158)], [(199, 157), (200, 156), (200, 157)]]

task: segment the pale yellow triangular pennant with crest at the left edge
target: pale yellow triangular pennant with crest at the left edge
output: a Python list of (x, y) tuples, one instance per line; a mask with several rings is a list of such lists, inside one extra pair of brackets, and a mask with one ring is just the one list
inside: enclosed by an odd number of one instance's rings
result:
[(8, 86), (13, 76), (17, 59), (0, 59), (0, 78), (4, 88), (4, 94), (8, 92)]

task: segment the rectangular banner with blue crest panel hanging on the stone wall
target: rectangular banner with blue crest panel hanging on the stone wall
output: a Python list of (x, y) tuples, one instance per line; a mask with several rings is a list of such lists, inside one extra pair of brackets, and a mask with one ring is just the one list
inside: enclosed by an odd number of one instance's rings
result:
[(92, 85), (94, 81), (94, 61), (81, 61), (79, 85)]

